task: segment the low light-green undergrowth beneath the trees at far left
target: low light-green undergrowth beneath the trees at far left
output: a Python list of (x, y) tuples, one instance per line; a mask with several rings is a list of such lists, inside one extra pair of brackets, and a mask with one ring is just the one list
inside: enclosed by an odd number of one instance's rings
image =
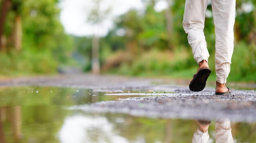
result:
[(19, 53), (0, 53), (1, 75), (18, 76), (30, 74), (52, 74), (56, 72), (58, 61), (51, 52), (23, 50)]

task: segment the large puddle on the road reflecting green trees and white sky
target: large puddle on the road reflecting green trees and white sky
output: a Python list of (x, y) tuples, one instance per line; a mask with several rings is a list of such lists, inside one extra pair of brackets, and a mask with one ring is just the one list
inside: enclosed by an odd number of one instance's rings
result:
[[(0, 88), (0, 143), (192, 142), (193, 134), (198, 129), (194, 119), (70, 110), (74, 106), (99, 101), (173, 95), (154, 91), (115, 92), (54, 87)], [(216, 142), (216, 122), (213, 119), (208, 128), (209, 143)], [(231, 119), (230, 128), (235, 143), (255, 143), (256, 123), (234, 122)]]

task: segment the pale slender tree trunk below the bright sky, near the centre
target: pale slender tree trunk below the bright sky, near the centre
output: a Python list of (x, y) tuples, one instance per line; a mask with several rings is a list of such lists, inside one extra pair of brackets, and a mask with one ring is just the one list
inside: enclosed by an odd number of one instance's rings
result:
[(92, 38), (92, 74), (100, 73), (99, 63), (99, 37), (94, 35)]

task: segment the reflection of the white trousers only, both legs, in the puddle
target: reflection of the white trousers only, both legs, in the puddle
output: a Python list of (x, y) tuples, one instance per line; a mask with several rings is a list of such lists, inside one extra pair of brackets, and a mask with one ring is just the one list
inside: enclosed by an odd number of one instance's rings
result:
[[(215, 124), (216, 131), (216, 143), (234, 143), (231, 134), (230, 120), (229, 119), (217, 119)], [(192, 143), (208, 143), (209, 134), (203, 133), (200, 130), (194, 132)]]

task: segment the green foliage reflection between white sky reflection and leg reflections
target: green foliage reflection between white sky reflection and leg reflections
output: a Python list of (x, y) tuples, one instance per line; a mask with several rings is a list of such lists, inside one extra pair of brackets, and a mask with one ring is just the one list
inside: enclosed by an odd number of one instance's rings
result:
[[(150, 119), (116, 114), (106, 114), (106, 117), (115, 124), (115, 131), (130, 142), (189, 143), (198, 128), (195, 121), (181, 119)], [(119, 123), (117, 118), (125, 120)]]

